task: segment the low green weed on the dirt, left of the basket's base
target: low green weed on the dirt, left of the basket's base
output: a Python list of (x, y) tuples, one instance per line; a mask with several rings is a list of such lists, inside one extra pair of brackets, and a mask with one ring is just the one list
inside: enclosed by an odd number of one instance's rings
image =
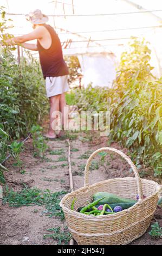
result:
[(70, 239), (72, 239), (72, 235), (69, 232), (67, 232), (67, 230), (61, 232), (60, 227), (49, 228), (47, 230), (53, 233), (43, 235), (43, 238), (52, 238), (57, 241), (57, 245), (61, 245), (62, 242), (64, 245), (68, 245), (68, 242), (70, 241)]

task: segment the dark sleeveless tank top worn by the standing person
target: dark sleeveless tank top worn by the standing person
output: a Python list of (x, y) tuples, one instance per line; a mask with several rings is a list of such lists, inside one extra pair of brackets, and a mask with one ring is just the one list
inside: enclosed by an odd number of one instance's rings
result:
[(51, 46), (46, 50), (37, 40), (38, 52), (40, 55), (40, 62), (44, 79), (48, 76), (64, 76), (68, 75), (68, 67), (64, 62), (62, 55), (62, 47), (59, 36), (50, 25), (43, 24), (50, 33)]

